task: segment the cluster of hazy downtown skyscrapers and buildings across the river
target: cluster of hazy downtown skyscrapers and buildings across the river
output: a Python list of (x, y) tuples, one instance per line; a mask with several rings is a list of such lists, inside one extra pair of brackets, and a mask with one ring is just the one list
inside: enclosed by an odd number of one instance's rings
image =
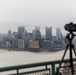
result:
[[(56, 36), (52, 35), (52, 27), (46, 27), (45, 36), (41, 35), (40, 27), (35, 27), (32, 33), (28, 33), (24, 26), (18, 27), (17, 32), (8, 31), (4, 42), (11, 48), (54, 48), (64, 47), (65, 37), (62, 35), (61, 29), (57, 28)], [(52, 45), (53, 44), (53, 45)], [(56, 44), (56, 45), (55, 45)]]

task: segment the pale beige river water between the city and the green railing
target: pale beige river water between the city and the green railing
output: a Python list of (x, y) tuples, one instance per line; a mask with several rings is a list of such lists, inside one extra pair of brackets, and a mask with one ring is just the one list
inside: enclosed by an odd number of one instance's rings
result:
[[(62, 58), (63, 53), (64, 50), (50, 53), (0, 50), (0, 67), (59, 60)], [(69, 58), (69, 52), (66, 53), (65, 58)]]

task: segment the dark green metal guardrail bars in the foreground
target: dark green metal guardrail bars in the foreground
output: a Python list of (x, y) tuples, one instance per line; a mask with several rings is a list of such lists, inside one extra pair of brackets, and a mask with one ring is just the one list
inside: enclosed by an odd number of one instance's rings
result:
[[(0, 72), (16, 70), (16, 74), (13, 73), (12, 75), (28, 75), (27, 73), (49, 70), (48, 75), (55, 75), (56, 65), (59, 64), (60, 61), (61, 60), (40, 62), (40, 63), (33, 63), (33, 64), (25, 64), (25, 65), (17, 65), (17, 66), (9, 66), (9, 67), (2, 67), (2, 68), (0, 68)], [(70, 61), (69, 59), (66, 59), (66, 60), (63, 61), (63, 63), (67, 63), (69, 61)], [(73, 61), (76, 61), (76, 58), (74, 58)], [(49, 65), (50, 65), (50, 68), (48, 68)], [(21, 69), (37, 68), (37, 67), (42, 67), (42, 66), (45, 66), (45, 67), (41, 70), (34, 70), (34, 71), (28, 71), (28, 72), (22, 72), (22, 73), (20, 72)], [(39, 74), (39, 75), (41, 75), (41, 74)]]

